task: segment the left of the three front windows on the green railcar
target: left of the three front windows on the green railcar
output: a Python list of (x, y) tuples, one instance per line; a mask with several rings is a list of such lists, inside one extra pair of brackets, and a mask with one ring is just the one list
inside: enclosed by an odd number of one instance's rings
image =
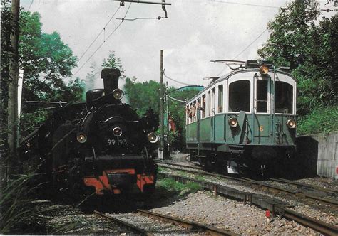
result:
[(250, 112), (250, 81), (240, 80), (229, 85), (229, 112)]

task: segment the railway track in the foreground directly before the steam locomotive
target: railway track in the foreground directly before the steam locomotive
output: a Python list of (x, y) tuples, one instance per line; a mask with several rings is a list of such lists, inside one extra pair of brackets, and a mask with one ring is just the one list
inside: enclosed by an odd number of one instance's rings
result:
[(228, 230), (208, 227), (196, 222), (181, 220), (169, 215), (161, 215), (148, 210), (137, 210), (135, 213), (106, 214), (99, 211), (94, 213), (102, 218), (117, 222), (130, 231), (140, 235), (154, 234), (208, 234), (208, 235), (235, 235)]

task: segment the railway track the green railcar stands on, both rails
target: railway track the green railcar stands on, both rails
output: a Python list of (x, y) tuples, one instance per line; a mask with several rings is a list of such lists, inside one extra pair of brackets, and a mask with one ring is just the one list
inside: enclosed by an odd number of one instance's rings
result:
[[(203, 174), (205, 176), (212, 176), (212, 177), (217, 177), (217, 178), (230, 179), (234, 181), (241, 181), (241, 182), (249, 183), (250, 185), (258, 186), (260, 188), (263, 188), (264, 190), (267, 189), (270, 191), (279, 191), (282, 193), (293, 195), (296, 198), (307, 198), (311, 200), (317, 200), (319, 202), (326, 203), (326, 204), (328, 203), (332, 206), (336, 206), (336, 207), (338, 206), (337, 200), (334, 199), (338, 195), (337, 191), (330, 191), (330, 190), (323, 189), (317, 186), (309, 186), (309, 185), (298, 183), (295, 181), (287, 181), (284, 179), (270, 178), (271, 181), (292, 184), (295, 186), (302, 186), (303, 188), (307, 188), (307, 190), (311, 189), (311, 191), (310, 192), (304, 191), (304, 190), (299, 191), (297, 189), (292, 190), (290, 188), (273, 185), (272, 183), (266, 183), (265, 181), (255, 181), (250, 178), (237, 178), (237, 177), (232, 177), (232, 176), (224, 176), (224, 175), (217, 174), (217, 173), (208, 173), (208, 172), (203, 171), (203, 168), (200, 168), (199, 166), (185, 166), (185, 165), (180, 165), (176, 163), (158, 163), (158, 166), (174, 169), (176, 171), (185, 171), (188, 173), (198, 173), (198, 174)], [(176, 168), (173, 166), (177, 166), (177, 167), (185, 168), (185, 169), (183, 170), (183, 169)]]

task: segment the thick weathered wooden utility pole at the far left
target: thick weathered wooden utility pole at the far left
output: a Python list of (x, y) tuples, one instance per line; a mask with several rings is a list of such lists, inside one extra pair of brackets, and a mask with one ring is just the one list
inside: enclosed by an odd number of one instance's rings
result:
[(19, 9), (20, 0), (11, 1), (12, 21), (11, 28), (11, 60), (9, 62), (9, 101), (8, 101), (8, 144), (9, 168), (7, 178), (13, 173), (13, 168), (18, 162), (16, 155), (16, 141), (18, 138), (18, 80), (19, 80)]

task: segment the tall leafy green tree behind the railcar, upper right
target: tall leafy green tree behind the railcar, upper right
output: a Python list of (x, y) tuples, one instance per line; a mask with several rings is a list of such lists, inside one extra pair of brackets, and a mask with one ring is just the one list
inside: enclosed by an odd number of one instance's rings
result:
[(297, 78), (297, 114), (337, 104), (338, 20), (318, 21), (319, 4), (293, 1), (268, 23), (270, 38), (258, 54), (278, 66), (290, 66)]

